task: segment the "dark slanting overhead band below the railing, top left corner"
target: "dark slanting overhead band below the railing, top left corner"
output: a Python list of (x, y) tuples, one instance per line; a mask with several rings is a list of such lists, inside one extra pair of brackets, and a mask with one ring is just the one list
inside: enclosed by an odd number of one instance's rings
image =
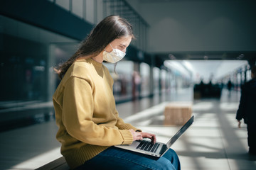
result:
[(90, 23), (46, 0), (1, 0), (0, 14), (76, 40), (92, 29)]

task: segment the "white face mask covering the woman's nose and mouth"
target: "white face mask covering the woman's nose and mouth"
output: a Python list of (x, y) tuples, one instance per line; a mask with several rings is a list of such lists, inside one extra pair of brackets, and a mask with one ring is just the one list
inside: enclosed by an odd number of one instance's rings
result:
[[(111, 44), (110, 44), (110, 46), (112, 47)], [(119, 62), (120, 60), (122, 60), (124, 55), (126, 55), (121, 50), (114, 49), (113, 47), (112, 47), (112, 49), (113, 49), (112, 52), (106, 52), (106, 50), (104, 50), (104, 52), (102, 54), (103, 60), (105, 60), (106, 62), (111, 62), (111, 63)]]

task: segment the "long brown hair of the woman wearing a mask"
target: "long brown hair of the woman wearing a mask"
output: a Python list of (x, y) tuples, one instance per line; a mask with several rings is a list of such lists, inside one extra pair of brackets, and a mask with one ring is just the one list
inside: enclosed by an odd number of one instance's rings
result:
[(107, 16), (92, 29), (90, 34), (82, 40), (80, 47), (70, 59), (60, 64), (54, 70), (60, 79), (63, 78), (68, 68), (80, 57), (95, 57), (107, 47), (114, 39), (122, 36), (132, 36), (132, 25), (119, 16)]

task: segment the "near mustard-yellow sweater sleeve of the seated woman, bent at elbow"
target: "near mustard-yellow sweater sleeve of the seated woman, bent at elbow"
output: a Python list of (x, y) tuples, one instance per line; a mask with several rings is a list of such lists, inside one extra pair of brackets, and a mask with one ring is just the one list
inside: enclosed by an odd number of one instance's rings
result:
[(85, 79), (70, 78), (65, 84), (63, 95), (63, 125), (68, 134), (90, 145), (129, 145), (132, 133), (118, 130), (92, 121), (92, 87)]

